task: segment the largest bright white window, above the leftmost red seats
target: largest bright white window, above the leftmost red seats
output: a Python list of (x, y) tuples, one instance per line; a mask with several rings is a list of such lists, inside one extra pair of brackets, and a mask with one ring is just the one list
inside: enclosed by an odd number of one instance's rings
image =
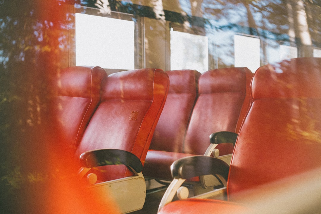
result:
[(76, 65), (134, 69), (134, 21), (76, 13)]

